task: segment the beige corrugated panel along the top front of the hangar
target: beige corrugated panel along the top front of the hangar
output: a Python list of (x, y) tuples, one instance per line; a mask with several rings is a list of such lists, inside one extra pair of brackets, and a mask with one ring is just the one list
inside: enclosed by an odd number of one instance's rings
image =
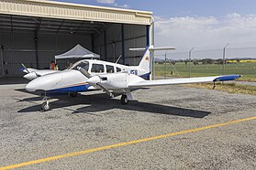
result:
[(152, 22), (148, 11), (46, 0), (0, 0), (0, 14), (139, 25)]

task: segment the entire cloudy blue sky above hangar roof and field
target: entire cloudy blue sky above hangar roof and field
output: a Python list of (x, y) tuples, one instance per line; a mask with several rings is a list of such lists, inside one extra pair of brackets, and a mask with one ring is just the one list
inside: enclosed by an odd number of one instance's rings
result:
[(229, 43), (228, 48), (253, 47), (246, 56), (256, 58), (256, 0), (58, 1), (152, 11), (156, 46), (183, 52), (222, 49)]

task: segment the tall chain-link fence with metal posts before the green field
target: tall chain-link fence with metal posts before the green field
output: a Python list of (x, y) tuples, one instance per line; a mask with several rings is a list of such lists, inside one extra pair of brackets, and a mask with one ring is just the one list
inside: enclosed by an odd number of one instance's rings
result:
[(256, 48), (223, 48), (155, 54), (154, 75), (201, 77), (240, 74), (240, 80), (256, 80)]

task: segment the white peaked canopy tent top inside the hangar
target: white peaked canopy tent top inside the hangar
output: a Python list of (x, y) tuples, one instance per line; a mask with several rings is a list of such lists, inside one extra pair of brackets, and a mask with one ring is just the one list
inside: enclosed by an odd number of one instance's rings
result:
[(100, 56), (78, 44), (71, 50), (55, 56), (55, 59), (62, 58), (100, 58)]

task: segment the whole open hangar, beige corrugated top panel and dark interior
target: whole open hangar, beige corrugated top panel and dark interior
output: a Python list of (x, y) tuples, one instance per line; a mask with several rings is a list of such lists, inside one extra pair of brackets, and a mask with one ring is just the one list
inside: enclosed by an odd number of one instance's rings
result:
[[(51, 1), (0, 0), (0, 77), (23, 73), (21, 63), (49, 69), (50, 61), (77, 44), (102, 60), (138, 65), (151, 42), (151, 13)], [(59, 69), (66, 61), (57, 61)]]

